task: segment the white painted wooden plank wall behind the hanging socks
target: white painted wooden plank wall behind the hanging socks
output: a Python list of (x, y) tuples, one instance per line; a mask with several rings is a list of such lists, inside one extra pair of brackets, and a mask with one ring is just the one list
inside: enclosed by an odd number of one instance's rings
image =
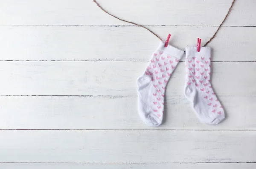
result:
[[(98, 2), (185, 48), (212, 36), (232, 0)], [(182, 59), (152, 128), (137, 114), (136, 79), (156, 37), (92, 0), (0, 0), (0, 169), (255, 169), (255, 9), (237, 0), (209, 44), (227, 119), (198, 121)]]

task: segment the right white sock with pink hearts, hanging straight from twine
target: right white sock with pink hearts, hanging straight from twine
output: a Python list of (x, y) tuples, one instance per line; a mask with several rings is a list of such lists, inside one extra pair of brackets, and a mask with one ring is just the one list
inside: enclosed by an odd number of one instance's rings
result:
[(207, 124), (218, 124), (225, 118), (224, 110), (218, 101), (210, 82), (211, 49), (201, 47), (186, 48), (185, 96), (192, 102), (198, 118)]

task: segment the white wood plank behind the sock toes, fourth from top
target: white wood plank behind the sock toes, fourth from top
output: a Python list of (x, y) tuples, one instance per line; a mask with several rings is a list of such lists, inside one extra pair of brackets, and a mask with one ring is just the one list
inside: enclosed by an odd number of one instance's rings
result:
[(148, 127), (137, 97), (0, 96), (0, 129), (65, 130), (256, 130), (256, 97), (219, 97), (226, 120), (201, 123), (185, 97), (168, 96), (164, 123)]

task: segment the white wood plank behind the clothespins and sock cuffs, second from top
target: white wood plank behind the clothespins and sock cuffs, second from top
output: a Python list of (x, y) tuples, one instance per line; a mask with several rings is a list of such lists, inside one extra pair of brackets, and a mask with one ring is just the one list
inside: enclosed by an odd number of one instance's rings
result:
[[(184, 49), (207, 42), (216, 27), (150, 27)], [(256, 27), (223, 27), (209, 44), (213, 61), (255, 61)], [(159, 39), (134, 26), (0, 26), (0, 60), (144, 60)]]

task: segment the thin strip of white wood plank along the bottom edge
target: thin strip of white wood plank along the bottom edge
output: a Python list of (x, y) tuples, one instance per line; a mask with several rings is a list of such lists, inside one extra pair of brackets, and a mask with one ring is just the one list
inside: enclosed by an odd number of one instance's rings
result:
[(256, 163), (0, 163), (1, 169), (254, 169)]

